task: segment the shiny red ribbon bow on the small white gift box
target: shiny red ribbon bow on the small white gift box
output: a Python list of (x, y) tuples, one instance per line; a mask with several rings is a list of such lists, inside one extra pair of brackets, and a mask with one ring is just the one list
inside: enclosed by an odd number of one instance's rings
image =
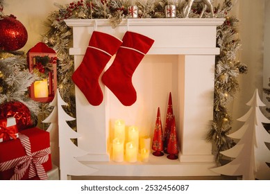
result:
[(3, 138), (3, 141), (8, 141), (10, 138), (17, 139), (17, 126), (12, 125), (7, 127), (8, 120), (1, 119), (0, 120), (0, 139)]

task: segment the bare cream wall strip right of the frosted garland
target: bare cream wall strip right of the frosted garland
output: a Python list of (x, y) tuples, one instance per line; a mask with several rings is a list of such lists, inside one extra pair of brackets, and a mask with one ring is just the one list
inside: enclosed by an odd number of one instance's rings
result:
[[(268, 0), (266, 0), (268, 1)], [(251, 99), (255, 88), (262, 96), (262, 68), (263, 68), (263, 38), (264, 38), (264, 0), (237, 1), (237, 17), (239, 22), (239, 38), (242, 41), (242, 50), (239, 52), (239, 61), (248, 66), (248, 73), (239, 76), (241, 91), (233, 101), (233, 129), (238, 130), (242, 122), (236, 121), (248, 110), (248, 100)]]

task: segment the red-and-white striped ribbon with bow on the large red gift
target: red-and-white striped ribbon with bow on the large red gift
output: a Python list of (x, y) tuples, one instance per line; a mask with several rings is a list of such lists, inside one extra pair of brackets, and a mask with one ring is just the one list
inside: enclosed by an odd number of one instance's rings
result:
[(14, 175), (10, 180), (20, 180), (24, 177), (26, 170), (29, 168), (28, 178), (31, 179), (36, 175), (40, 177), (41, 180), (48, 179), (47, 173), (44, 170), (42, 164), (49, 159), (49, 154), (51, 153), (50, 148), (45, 148), (37, 152), (31, 152), (31, 143), (28, 136), (24, 134), (19, 134), (19, 139), (24, 146), (26, 155), (10, 161), (5, 161), (0, 164), (0, 171), (8, 170), (10, 168), (15, 168)]

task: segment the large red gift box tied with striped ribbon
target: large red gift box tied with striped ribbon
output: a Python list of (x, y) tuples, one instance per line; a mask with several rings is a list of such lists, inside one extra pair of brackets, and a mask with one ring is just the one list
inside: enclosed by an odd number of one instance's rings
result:
[(0, 143), (0, 179), (47, 179), (51, 168), (49, 132), (34, 127)]

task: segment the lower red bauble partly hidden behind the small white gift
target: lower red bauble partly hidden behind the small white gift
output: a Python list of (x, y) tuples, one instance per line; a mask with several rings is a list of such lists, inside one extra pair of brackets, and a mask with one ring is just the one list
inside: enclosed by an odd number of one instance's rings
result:
[(0, 119), (14, 117), (19, 131), (33, 127), (31, 112), (19, 101), (10, 101), (0, 105)]

